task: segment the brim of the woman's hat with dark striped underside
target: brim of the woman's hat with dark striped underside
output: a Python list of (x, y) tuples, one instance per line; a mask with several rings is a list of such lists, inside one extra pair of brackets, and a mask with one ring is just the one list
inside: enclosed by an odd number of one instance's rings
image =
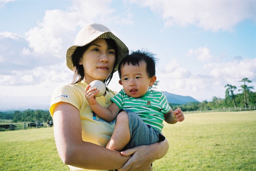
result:
[(118, 70), (118, 65), (121, 62), (121, 60), (128, 55), (129, 53), (129, 49), (126, 47), (126, 45), (118, 38), (116, 37), (112, 32), (110, 31), (106, 31), (104, 33), (100, 32), (100, 35), (93, 35), (93, 37), (91, 37), (91, 41), (89, 41), (86, 44), (83, 45), (73, 45), (70, 48), (68, 48), (67, 50), (67, 54), (66, 54), (66, 61), (67, 61), (67, 66), (70, 70), (74, 70), (74, 66), (73, 66), (73, 62), (72, 62), (72, 55), (74, 54), (74, 51), (77, 49), (77, 47), (82, 47), (85, 46), (91, 42), (93, 42), (94, 40), (98, 39), (98, 38), (104, 38), (104, 39), (113, 39), (116, 43), (116, 46), (118, 47), (118, 54), (117, 54), (117, 65), (116, 67), (113, 69), (114, 72), (116, 72)]

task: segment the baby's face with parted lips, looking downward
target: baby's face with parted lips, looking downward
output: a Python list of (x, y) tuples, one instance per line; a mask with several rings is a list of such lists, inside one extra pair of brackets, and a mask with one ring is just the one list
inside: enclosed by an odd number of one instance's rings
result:
[(146, 72), (146, 63), (140, 62), (140, 66), (125, 64), (121, 67), (121, 82), (127, 95), (137, 98), (146, 94), (150, 86), (151, 78)]

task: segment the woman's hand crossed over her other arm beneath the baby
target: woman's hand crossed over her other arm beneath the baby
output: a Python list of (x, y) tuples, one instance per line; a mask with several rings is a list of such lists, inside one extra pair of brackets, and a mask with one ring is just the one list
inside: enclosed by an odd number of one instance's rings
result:
[[(149, 145), (142, 145), (134, 147), (133, 149), (128, 149), (122, 151), (123, 156), (132, 155), (132, 157), (123, 165), (122, 168), (118, 169), (119, 171), (152, 171), (153, 168), (151, 164), (155, 160), (152, 156), (152, 151), (148, 149)], [(145, 169), (148, 168), (148, 169)]]

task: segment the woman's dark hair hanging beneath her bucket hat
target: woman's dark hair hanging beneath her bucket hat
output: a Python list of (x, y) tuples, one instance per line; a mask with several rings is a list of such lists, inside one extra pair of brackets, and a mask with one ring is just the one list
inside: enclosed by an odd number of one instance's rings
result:
[[(115, 44), (115, 41), (113, 39), (105, 39), (105, 41), (107, 42), (108, 45), (108, 49), (114, 49), (115, 50), (115, 63), (114, 63), (114, 67), (112, 72), (110, 73), (110, 75), (108, 76), (108, 78), (106, 78), (104, 80), (105, 85), (107, 86), (109, 84), (109, 82), (111, 81), (113, 74), (114, 74), (114, 68), (116, 67), (117, 64), (117, 54), (118, 54), (118, 48)], [(77, 47), (77, 49), (74, 51), (73, 55), (72, 55), (72, 62), (73, 62), (73, 66), (74, 66), (74, 74), (73, 74), (73, 79), (72, 79), (72, 83), (71, 84), (77, 84), (80, 81), (82, 81), (84, 79), (84, 71), (83, 71), (83, 65), (79, 64), (79, 60), (83, 57), (83, 53), (87, 50), (87, 48), (92, 44), (93, 42), (85, 45), (85, 46), (81, 46), (81, 47)]]

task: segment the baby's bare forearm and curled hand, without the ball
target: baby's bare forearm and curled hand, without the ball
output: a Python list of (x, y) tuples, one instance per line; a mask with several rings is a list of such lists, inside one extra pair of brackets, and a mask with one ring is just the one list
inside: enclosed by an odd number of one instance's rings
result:
[(175, 109), (174, 111), (171, 109), (168, 113), (164, 115), (164, 120), (169, 124), (174, 124), (184, 121), (185, 117), (183, 111), (180, 108)]

